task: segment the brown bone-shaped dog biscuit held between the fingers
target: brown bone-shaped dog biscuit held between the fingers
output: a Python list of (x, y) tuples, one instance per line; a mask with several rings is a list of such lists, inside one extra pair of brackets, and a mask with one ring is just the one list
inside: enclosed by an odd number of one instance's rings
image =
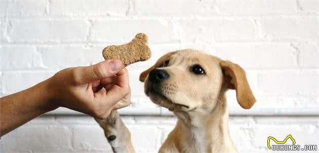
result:
[(146, 61), (151, 56), (148, 37), (144, 33), (138, 33), (129, 43), (106, 46), (102, 54), (105, 60), (121, 60), (125, 67), (135, 62)]

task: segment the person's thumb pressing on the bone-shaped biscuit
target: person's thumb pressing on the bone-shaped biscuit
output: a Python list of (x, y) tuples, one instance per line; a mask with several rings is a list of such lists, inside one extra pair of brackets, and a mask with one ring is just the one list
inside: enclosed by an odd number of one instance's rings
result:
[(95, 65), (76, 68), (76, 82), (89, 83), (95, 80), (114, 76), (123, 68), (122, 62), (117, 59), (107, 60)]

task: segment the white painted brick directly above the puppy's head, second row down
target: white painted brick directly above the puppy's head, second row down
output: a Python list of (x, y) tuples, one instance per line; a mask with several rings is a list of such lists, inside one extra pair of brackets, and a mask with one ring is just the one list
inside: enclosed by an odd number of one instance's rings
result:
[(249, 19), (186, 19), (175, 22), (182, 42), (257, 39), (253, 21)]

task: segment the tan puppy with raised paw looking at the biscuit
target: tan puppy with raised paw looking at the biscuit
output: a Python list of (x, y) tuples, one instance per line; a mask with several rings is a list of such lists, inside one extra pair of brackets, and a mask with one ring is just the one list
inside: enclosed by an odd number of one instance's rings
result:
[[(178, 50), (141, 73), (140, 81), (153, 103), (178, 118), (158, 152), (237, 152), (228, 132), (225, 92), (236, 90), (244, 109), (256, 101), (240, 66), (197, 50)], [(135, 152), (130, 132), (115, 111), (97, 122), (114, 152)]]

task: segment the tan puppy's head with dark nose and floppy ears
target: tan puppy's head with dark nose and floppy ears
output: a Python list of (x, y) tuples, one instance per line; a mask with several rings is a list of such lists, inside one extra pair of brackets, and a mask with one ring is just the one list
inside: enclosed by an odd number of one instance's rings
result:
[(237, 101), (250, 109), (255, 98), (238, 65), (206, 53), (185, 49), (161, 57), (140, 75), (153, 103), (173, 112), (211, 112), (227, 89), (235, 89)]

